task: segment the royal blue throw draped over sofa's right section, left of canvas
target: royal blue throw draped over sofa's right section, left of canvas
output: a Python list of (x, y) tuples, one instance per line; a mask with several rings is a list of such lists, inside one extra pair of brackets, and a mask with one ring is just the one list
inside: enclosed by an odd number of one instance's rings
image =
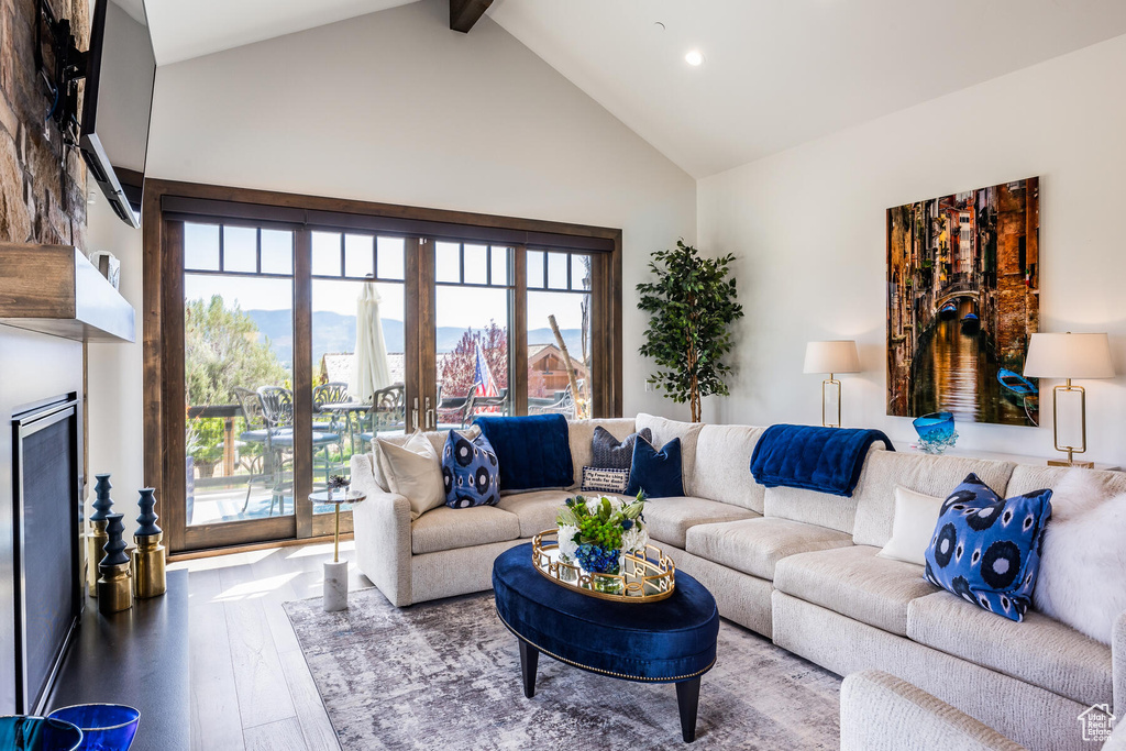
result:
[(879, 430), (770, 426), (751, 455), (751, 474), (767, 488), (787, 485), (851, 497), (864, 457), (877, 440), (895, 450)]

